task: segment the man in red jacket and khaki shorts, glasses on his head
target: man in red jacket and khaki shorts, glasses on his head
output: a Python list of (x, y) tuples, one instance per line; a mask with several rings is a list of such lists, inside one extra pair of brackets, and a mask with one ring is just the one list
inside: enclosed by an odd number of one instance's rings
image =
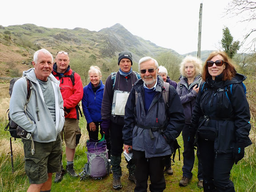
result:
[[(70, 176), (78, 177), (74, 169), (74, 156), (81, 136), (78, 103), (83, 97), (83, 85), (80, 76), (76, 72), (72, 72), (69, 66), (68, 52), (57, 52), (55, 60), (52, 74), (57, 80), (60, 80), (60, 92), (64, 100), (65, 124), (61, 137), (63, 139), (64, 133), (67, 157), (66, 169)], [(62, 162), (60, 163), (62, 164)], [(64, 174), (65, 170), (61, 165), (61, 172), (56, 173), (54, 182), (60, 182)]]

